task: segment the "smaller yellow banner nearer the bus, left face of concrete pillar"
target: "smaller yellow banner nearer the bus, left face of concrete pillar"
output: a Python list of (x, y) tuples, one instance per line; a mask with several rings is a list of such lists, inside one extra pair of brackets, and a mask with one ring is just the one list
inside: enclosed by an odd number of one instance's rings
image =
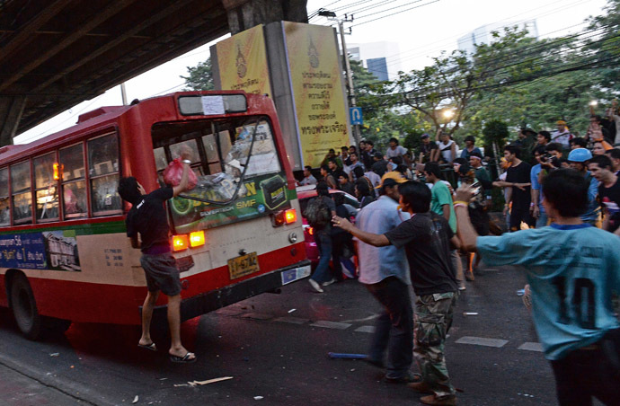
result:
[(216, 49), (223, 90), (271, 94), (262, 25), (217, 42)]

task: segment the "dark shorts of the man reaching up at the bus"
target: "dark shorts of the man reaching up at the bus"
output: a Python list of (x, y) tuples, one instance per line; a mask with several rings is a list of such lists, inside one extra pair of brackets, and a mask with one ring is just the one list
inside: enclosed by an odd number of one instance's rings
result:
[(176, 296), (181, 293), (181, 279), (179, 269), (173, 254), (142, 254), (140, 264), (145, 269), (146, 287), (149, 292), (161, 290), (165, 296)]

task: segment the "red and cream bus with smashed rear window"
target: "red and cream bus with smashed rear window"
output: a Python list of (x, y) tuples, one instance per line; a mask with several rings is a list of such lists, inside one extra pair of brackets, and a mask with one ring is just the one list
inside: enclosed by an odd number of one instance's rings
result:
[[(155, 190), (187, 147), (198, 184), (166, 207), (182, 320), (309, 276), (269, 98), (191, 92), (102, 107), (58, 134), (0, 148), (0, 305), (26, 337), (58, 319), (140, 323), (146, 279), (118, 181), (135, 176)], [(164, 318), (161, 300), (155, 318)]]

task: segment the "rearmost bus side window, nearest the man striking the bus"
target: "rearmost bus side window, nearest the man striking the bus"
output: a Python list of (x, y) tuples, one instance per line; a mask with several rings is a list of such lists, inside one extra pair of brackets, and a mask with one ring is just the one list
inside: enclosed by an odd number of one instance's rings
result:
[(93, 216), (122, 213), (119, 187), (119, 143), (116, 133), (88, 140)]

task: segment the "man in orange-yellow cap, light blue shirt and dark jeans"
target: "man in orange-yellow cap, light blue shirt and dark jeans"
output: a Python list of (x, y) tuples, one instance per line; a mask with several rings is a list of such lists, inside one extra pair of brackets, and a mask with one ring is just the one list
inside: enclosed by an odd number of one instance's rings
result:
[[(411, 217), (398, 209), (398, 184), (404, 181), (398, 172), (385, 173), (377, 188), (381, 196), (364, 207), (356, 218), (359, 229), (384, 234)], [(383, 306), (370, 339), (368, 362), (384, 367), (387, 350), (385, 380), (412, 382), (413, 310), (409, 291), (412, 282), (404, 250), (394, 246), (378, 248), (359, 241), (358, 256), (358, 280)]]

